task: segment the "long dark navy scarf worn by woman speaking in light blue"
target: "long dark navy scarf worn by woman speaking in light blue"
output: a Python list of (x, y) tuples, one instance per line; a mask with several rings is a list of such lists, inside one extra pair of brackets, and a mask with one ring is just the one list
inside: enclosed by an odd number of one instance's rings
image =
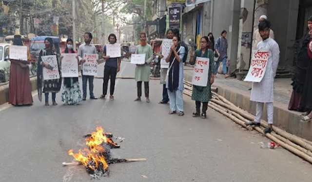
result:
[[(176, 47), (176, 51), (178, 51), (179, 49), (180, 49), (180, 45)], [(170, 56), (170, 63), (169, 63), (169, 67), (171, 66), (171, 69), (169, 70), (169, 76), (168, 76), (168, 90), (170, 92), (177, 90), (179, 86), (179, 65), (180, 63), (175, 59), (175, 54), (172, 53)]]

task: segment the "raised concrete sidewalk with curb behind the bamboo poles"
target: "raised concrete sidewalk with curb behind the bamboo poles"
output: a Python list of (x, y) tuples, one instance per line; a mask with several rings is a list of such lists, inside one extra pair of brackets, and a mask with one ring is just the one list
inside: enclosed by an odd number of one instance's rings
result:
[[(184, 78), (192, 81), (192, 70), (185, 66)], [(214, 86), (218, 94), (230, 100), (238, 107), (255, 115), (255, 102), (250, 101), (251, 83), (238, 81), (235, 78), (224, 79), (224, 75), (217, 75)], [(312, 141), (312, 123), (300, 122), (301, 113), (288, 110), (288, 103), (292, 94), (291, 79), (275, 79), (274, 85), (274, 125), (297, 136)], [(267, 120), (264, 110), (263, 120)]]

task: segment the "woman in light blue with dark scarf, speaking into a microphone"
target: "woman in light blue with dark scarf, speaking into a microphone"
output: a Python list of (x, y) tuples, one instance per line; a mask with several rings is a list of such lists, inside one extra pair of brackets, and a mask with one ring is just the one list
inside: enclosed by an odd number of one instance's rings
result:
[(185, 48), (180, 45), (180, 37), (175, 35), (173, 37), (174, 45), (170, 49), (170, 54), (166, 58), (169, 64), (167, 89), (169, 95), (170, 112), (175, 114), (178, 110), (179, 116), (184, 115), (183, 110), (183, 56)]

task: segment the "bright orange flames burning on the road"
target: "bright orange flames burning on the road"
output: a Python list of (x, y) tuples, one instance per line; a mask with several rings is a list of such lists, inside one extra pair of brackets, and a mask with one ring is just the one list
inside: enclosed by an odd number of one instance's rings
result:
[(89, 149), (85, 148), (83, 151), (79, 149), (78, 153), (74, 153), (74, 150), (70, 149), (68, 155), (73, 156), (76, 161), (94, 171), (99, 167), (107, 170), (108, 164), (105, 157), (102, 155), (105, 151), (105, 148), (102, 147), (103, 143), (110, 145), (115, 144), (106, 136), (106, 133), (101, 127), (97, 127), (96, 132), (92, 132), (91, 136), (86, 138), (86, 145)]

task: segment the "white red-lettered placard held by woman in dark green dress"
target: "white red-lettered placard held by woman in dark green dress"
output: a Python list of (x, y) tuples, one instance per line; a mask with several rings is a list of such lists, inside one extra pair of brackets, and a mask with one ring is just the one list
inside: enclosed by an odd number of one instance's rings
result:
[(196, 64), (193, 69), (192, 84), (207, 86), (209, 74), (209, 58), (196, 57)]

